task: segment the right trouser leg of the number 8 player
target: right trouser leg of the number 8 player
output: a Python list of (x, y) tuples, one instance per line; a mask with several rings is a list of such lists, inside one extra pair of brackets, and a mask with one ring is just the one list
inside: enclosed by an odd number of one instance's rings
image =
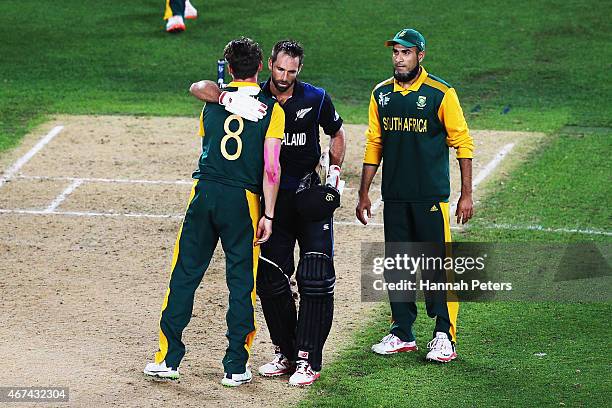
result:
[(246, 372), (255, 338), (255, 280), (259, 247), (254, 238), (259, 222), (259, 195), (248, 190), (215, 184), (213, 223), (225, 253), (229, 306), (226, 315), (229, 341), (223, 367), (226, 374)]

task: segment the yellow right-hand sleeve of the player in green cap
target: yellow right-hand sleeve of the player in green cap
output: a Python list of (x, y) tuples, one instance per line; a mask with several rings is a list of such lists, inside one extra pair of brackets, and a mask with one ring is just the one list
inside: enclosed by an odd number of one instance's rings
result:
[(458, 159), (471, 159), (474, 157), (474, 140), (463, 116), (459, 98), (454, 88), (449, 88), (444, 94), (438, 118), (446, 129), (446, 144), (457, 149)]

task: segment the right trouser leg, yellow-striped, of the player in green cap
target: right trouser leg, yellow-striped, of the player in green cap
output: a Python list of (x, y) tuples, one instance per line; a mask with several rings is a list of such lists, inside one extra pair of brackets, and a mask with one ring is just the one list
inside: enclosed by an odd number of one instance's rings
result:
[[(451, 242), (449, 205), (444, 202), (413, 203), (412, 213), (415, 220), (417, 241), (440, 243), (437, 256), (445, 256), (444, 243)], [(435, 271), (436, 281), (447, 281), (446, 271)], [(446, 333), (448, 338), (456, 341), (457, 314), (459, 303), (454, 294), (436, 291), (425, 292), (425, 305), (429, 317), (436, 318), (434, 337), (436, 332)]]

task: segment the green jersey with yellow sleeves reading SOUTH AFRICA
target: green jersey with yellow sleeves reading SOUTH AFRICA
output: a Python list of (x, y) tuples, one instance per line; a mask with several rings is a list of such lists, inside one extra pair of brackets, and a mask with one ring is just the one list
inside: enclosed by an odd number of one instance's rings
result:
[(448, 201), (448, 148), (474, 150), (455, 89), (425, 68), (408, 89), (394, 78), (374, 88), (366, 137), (364, 164), (383, 162), (385, 201)]

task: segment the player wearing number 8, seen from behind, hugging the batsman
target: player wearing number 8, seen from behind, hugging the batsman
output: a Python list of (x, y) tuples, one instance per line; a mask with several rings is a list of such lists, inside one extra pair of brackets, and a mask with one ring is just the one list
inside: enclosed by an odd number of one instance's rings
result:
[[(226, 386), (251, 381), (247, 366), (255, 337), (255, 281), (259, 244), (272, 233), (280, 180), (280, 146), (285, 114), (260, 92), (261, 48), (248, 38), (231, 41), (224, 50), (234, 81), (229, 90), (253, 95), (267, 106), (257, 121), (230, 114), (216, 103), (200, 115), (202, 154), (189, 205), (176, 239), (170, 284), (162, 305), (159, 351), (144, 373), (177, 379), (185, 355), (182, 333), (191, 318), (196, 288), (208, 268), (219, 239), (226, 257), (229, 288), (227, 338), (223, 359)], [(263, 193), (266, 213), (260, 214)]]

